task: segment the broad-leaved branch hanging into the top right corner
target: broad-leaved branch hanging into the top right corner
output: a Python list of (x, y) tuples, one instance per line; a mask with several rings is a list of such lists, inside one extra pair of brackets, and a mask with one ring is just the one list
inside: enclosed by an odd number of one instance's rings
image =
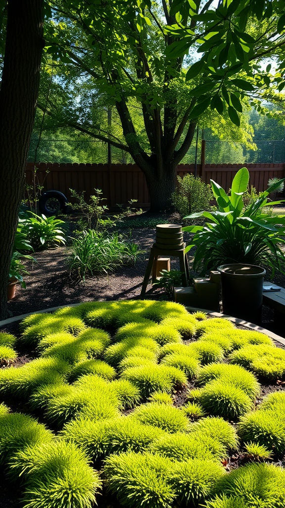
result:
[[(285, 86), (285, 3), (281, 0), (224, 0), (217, 9), (199, 0), (172, 3), (170, 12), (176, 23), (165, 27), (175, 40), (166, 48), (169, 59), (197, 52), (186, 80), (199, 83), (191, 96), (197, 103), (190, 117), (201, 115), (210, 106), (219, 114), (227, 110), (233, 123), (240, 124), (245, 95), (255, 97), (270, 85), (280, 92)], [(266, 58), (276, 58), (276, 71)]]

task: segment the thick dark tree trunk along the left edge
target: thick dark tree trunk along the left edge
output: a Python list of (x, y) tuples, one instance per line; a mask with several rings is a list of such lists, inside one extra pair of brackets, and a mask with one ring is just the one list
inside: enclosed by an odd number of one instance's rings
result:
[(0, 90), (0, 320), (8, 317), (7, 282), (39, 91), (43, 2), (8, 0)]

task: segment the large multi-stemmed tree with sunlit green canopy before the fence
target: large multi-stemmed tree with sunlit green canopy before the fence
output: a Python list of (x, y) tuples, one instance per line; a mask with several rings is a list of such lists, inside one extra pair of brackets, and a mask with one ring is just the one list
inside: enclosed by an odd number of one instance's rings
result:
[(46, 4), (54, 92), (39, 107), (49, 128), (124, 150), (146, 176), (153, 211), (170, 206), (198, 122), (250, 136), (242, 111), (273, 90), (283, 97), (285, 0)]

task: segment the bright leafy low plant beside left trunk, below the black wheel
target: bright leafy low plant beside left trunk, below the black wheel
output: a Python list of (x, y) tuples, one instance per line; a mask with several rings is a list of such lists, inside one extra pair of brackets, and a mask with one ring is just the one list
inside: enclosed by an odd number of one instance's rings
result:
[(44, 214), (37, 215), (28, 212), (31, 216), (24, 219), (22, 230), (34, 250), (56, 247), (65, 244), (64, 232), (59, 229), (64, 224), (63, 220), (57, 219), (54, 215), (46, 217)]

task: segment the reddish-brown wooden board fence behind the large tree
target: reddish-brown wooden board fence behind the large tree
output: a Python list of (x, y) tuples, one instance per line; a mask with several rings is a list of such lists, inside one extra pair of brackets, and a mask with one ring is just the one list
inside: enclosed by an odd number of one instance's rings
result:
[[(77, 192), (85, 190), (88, 199), (94, 188), (99, 188), (106, 198), (105, 204), (110, 210), (118, 208), (118, 204), (127, 205), (131, 199), (137, 200), (136, 206), (148, 208), (150, 206), (148, 187), (144, 174), (135, 164), (51, 164), (39, 163), (37, 179), (43, 184), (44, 190), (60, 190), (66, 198), (70, 199), (72, 188)], [(246, 166), (250, 172), (250, 184), (258, 192), (267, 188), (269, 178), (285, 177), (285, 163), (283, 164), (201, 164), (196, 166), (196, 174), (203, 181), (209, 183), (210, 179), (222, 185), (227, 192), (235, 173)], [(26, 181), (33, 181), (32, 163), (26, 165)], [(195, 174), (194, 164), (179, 165), (177, 174), (183, 176), (187, 173)]]

